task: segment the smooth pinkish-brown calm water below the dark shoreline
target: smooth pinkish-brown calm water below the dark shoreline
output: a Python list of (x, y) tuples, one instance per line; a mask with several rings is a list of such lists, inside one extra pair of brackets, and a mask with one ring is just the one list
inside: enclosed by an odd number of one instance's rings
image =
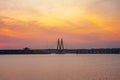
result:
[(0, 55), (0, 80), (120, 80), (120, 55)]

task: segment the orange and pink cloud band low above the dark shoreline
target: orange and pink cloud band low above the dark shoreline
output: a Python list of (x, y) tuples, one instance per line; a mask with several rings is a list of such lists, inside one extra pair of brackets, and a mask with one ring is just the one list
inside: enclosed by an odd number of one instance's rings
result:
[[(85, 19), (78, 20), (77, 24), (65, 21), (69, 25), (76, 26), (68, 26), (68, 28), (47, 27), (37, 21), (23, 22), (7, 17), (2, 17), (0, 22), (0, 44), (5, 44), (1, 48), (23, 48), (25, 46), (46, 48), (47, 45), (51, 48), (56, 48), (58, 37), (64, 38), (66, 48), (105, 47), (108, 44), (113, 45), (115, 42), (117, 44), (119, 40), (113, 33), (106, 32)], [(82, 25), (78, 24), (79, 22)], [(106, 45), (103, 44), (104, 42)]]

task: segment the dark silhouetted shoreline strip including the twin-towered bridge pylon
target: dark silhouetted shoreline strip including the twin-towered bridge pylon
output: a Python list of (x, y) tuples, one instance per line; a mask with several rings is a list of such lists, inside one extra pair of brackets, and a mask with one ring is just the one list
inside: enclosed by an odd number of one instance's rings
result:
[(120, 54), (120, 48), (65, 49), (63, 39), (57, 40), (56, 49), (0, 50), (0, 54)]

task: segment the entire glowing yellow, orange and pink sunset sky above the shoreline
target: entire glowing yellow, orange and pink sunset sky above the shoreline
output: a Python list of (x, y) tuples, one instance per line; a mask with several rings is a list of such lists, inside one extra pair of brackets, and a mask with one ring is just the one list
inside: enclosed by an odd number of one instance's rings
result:
[(0, 49), (120, 47), (120, 0), (0, 0)]

